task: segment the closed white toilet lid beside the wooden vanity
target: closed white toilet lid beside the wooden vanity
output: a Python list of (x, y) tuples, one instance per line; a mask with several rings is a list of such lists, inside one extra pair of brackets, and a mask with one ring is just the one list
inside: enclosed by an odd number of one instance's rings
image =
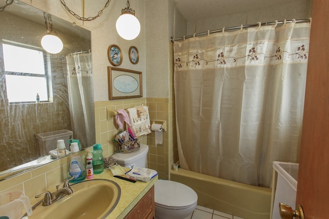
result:
[(167, 207), (189, 207), (197, 202), (190, 187), (169, 180), (158, 180), (154, 186), (155, 203)]

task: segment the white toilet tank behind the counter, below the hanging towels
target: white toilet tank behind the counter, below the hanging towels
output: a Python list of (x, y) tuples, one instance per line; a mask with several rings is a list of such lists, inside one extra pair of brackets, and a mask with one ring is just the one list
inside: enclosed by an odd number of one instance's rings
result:
[(146, 168), (146, 158), (148, 155), (149, 146), (140, 144), (140, 148), (132, 153), (116, 153), (113, 155), (117, 159), (117, 164), (124, 167), (141, 167)]

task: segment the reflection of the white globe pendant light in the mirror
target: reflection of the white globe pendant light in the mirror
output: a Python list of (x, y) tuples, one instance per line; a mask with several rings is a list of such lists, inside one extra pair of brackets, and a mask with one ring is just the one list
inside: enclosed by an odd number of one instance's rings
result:
[(52, 29), (51, 14), (44, 12), (43, 15), (45, 18), (47, 33), (42, 37), (41, 45), (47, 52), (57, 54), (62, 51), (63, 43), (61, 39), (57, 36), (56, 31)]

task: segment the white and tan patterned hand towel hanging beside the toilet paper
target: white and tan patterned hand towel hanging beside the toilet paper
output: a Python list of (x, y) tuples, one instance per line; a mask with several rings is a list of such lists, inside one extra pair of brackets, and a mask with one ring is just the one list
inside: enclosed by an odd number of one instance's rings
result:
[(147, 106), (132, 107), (128, 108), (127, 111), (135, 136), (141, 136), (152, 132), (149, 109)]

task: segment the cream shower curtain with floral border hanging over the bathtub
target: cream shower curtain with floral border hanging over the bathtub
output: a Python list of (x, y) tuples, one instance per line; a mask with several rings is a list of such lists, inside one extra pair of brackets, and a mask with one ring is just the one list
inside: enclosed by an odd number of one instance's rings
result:
[(310, 23), (174, 42), (180, 167), (270, 187), (298, 163)]

